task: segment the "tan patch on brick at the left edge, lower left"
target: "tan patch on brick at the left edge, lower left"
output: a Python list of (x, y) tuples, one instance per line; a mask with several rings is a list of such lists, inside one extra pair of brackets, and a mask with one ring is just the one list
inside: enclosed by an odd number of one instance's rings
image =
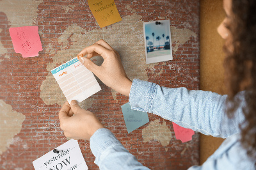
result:
[(10, 144), (20, 140), (19, 137), (13, 137), (19, 134), (24, 120), (24, 114), (13, 111), (12, 105), (0, 100), (0, 155), (7, 150)]

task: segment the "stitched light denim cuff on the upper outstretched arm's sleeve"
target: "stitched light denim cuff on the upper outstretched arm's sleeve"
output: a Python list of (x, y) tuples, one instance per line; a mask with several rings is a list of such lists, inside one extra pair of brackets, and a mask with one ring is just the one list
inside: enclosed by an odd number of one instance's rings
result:
[(152, 112), (154, 97), (156, 96), (156, 84), (134, 79), (132, 81), (129, 105), (131, 109)]

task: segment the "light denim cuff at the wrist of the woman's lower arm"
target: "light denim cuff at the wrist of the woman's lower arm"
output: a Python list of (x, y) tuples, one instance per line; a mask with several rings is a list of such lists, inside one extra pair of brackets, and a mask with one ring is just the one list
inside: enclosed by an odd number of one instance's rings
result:
[(115, 135), (106, 128), (98, 129), (90, 138), (90, 148), (95, 156), (94, 163), (99, 166), (100, 157), (104, 155), (104, 151), (115, 145), (122, 145)]

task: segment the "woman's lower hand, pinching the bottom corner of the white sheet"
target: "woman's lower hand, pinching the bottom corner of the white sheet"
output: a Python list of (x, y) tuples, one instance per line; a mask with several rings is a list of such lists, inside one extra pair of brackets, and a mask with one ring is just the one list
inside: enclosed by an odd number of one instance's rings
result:
[(104, 128), (95, 114), (82, 109), (76, 100), (72, 100), (70, 105), (66, 102), (61, 107), (59, 119), (64, 135), (76, 140), (90, 140), (94, 132)]

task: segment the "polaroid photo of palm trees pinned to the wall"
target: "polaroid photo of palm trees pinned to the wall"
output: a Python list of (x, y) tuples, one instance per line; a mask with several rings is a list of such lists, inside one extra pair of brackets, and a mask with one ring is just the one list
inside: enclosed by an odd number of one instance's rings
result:
[(146, 63), (172, 60), (170, 20), (144, 22)]

